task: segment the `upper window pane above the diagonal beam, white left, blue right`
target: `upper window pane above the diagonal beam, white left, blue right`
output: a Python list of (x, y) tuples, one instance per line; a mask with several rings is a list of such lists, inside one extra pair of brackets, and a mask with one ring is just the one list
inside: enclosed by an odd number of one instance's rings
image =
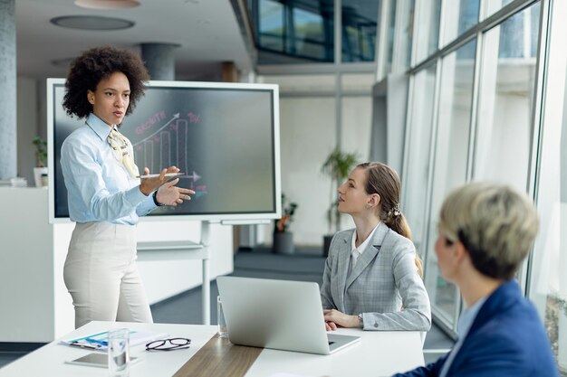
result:
[(444, 16), (444, 45), (478, 23), (480, 0), (452, 0), (446, 2)]

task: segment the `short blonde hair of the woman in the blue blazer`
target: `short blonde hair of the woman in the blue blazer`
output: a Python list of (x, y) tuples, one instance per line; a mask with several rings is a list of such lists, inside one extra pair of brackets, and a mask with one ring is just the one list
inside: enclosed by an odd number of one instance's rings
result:
[(475, 268), (490, 278), (514, 276), (538, 227), (533, 201), (505, 184), (457, 187), (439, 213), (439, 230), (447, 241), (462, 242)]

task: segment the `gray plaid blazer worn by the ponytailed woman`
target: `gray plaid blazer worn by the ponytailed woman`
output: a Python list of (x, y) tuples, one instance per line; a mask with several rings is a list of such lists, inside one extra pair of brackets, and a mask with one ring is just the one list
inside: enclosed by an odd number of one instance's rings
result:
[(349, 274), (354, 230), (334, 235), (325, 262), (322, 306), (362, 314), (364, 330), (428, 331), (431, 307), (415, 264), (415, 247), (380, 222)]

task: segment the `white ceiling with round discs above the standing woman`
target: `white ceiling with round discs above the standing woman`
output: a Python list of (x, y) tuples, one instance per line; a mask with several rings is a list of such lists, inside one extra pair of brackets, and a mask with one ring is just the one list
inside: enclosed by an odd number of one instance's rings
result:
[[(18, 76), (65, 77), (67, 67), (53, 61), (71, 59), (101, 44), (139, 51), (142, 42), (178, 43), (177, 80), (215, 80), (223, 61), (252, 71), (252, 61), (229, 0), (139, 0), (136, 8), (92, 10), (73, 0), (15, 0)], [(101, 15), (136, 23), (119, 31), (63, 28), (49, 20), (65, 15)]]

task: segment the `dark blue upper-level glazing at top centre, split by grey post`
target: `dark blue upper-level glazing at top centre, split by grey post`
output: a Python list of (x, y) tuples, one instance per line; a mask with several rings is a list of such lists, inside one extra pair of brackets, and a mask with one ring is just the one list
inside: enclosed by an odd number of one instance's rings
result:
[[(260, 63), (334, 61), (334, 3), (248, 0)], [(343, 0), (342, 61), (374, 61), (380, 1)]]

